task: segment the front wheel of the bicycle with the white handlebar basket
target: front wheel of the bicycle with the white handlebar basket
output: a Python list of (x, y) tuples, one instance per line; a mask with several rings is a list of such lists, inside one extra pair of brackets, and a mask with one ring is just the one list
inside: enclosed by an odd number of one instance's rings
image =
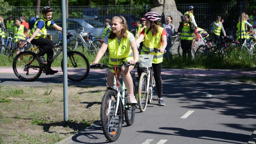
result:
[(142, 72), (139, 79), (139, 90), (138, 90), (138, 99), (139, 99), (139, 110), (144, 112), (147, 108), (147, 73)]

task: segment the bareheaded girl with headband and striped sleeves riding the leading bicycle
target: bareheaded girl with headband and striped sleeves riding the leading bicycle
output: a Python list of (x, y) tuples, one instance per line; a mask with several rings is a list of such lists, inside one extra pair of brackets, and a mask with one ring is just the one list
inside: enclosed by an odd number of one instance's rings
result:
[[(127, 22), (122, 16), (115, 16), (111, 20), (111, 32), (106, 35), (100, 50), (98, 51), (95, 60), (92, 64), (99, 63), (101, 57), (105, 54), (107, 47), (109, 47), (109, 61), (111, 65), (122, 64), (122, 61), (135, 64), (138, 61), (138, 49), (135, 37), (127, 30)], [(130, 75), (134, 66), (122, 67), (123, 81), (127, 88), (129, 103), (137, 104), (136, 98), (133, 94), (133, 80)], [(107, 87), (113, 86), (114, 73), (111, 71), (107, 75)]]

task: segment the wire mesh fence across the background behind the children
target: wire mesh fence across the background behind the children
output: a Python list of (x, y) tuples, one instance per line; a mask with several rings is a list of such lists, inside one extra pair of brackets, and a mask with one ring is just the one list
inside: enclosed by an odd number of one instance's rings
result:
[[(237, 20), (237, 5), (236, 3), (220, 3), (220, 4), (182, 4), (182, 5), (165, 5), (166, 9), (175, 10), (177, 9), (180, 13), (171, 13), (172, 17), (180, 17), (183, 15), (190, 5), (194, 6), (193, 14), (198, 27), (203, 29), (210, 29), (210, 25), (216, 20), (217, 16), (221, 16), (224, 19), (223, 27), (234, 28)], [(248, 4), (251, 5), (251, 4)], [(43, 7), (43, 6), (42, 6)], [(42, 8), (41, 7), (41, 8)], [(36, 11), (39, 10), (37, 17), (42, 18), (41, 8), (31, 6), (23, 7), (0, 7), (0, 14), (6, 21), (8, 17), (13, 17), (14, 24), (15, 18), (26, 16), (26, 22), (29, 22), (29, 18), (36, 17)], [(61, 6), (51, 7), (53, 9), (52, 20), (59, 26), (62, 26), (63, 21), (61, 20), (62, 10)], [(251, 11), (253, 7), (247, 7), (248, 11)], [(155, 7), (154, 5), (110, 5), (110, 6), (69, 6), (66, 12), (67, 15), (67, 31), (75, 33), (75, 29), (85, 27), (85, 32), (92, 32), (94, 40), (101, 39), (103, 30), (105, 28), (105, 19), (111, 19), (115, 15), (122, 15), (125, 17), (128, 29), (134, 30), (135, 21), (141, 20), (142, 16), (151, 11), (151, 9), (163, 11), (162, 7)], [(165, 23), (165, 17), (163, 16), (162, 23)], [(176, 28), (178, 28), (180, 19), (173, 19)], [(177, 29), (176, 29), (177, 31)], [(53, 40), (57, 42), (58, 34), (53, 27), (48, 28), (48, 33), (53, 35)], [(211, 31), (207, 31), (211, 33)], [(7, 38), (7, 36), (6, 36)], [(5, 39), (6, 39), (5, 38)], [(81, 43), (81, 42), (80, 42)], [(5, 44), (5, 43), (4, 43)], [(100, 45), (97, 45), (99, 48)]]

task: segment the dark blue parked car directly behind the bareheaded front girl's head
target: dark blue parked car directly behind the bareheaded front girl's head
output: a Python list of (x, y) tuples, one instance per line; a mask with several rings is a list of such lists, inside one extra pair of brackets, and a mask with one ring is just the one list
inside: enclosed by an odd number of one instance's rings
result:
[[(105, 23), (105, 19), (112, 19), (114, 16), (121, 15), (126, 19), (128, 30), (136, 29), (135, 22), (136, 20), (141, 20), (137, 15), (132, 14), (109, 14), (104, 16), (98, 16), (95, 20), (98, 20), (100, 23)], [(110, 24), (111, 25), (111, 24)]]

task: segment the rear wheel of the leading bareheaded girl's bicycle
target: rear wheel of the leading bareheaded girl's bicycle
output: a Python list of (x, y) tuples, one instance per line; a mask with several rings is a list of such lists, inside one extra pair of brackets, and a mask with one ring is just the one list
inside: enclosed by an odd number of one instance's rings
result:
[[(136, 96), (136, 90), (135, 90), (135, 83), (133, 81), (133, 94)], [(125, 113), (125, 122), (127, 125), (131, 126), (134, 122), (134, 116), (135, 116), (135, 105), (127, 105), (129, 103), (129, 97), (125, 97), (125, 105), (126, 109), (124, 110)]]

